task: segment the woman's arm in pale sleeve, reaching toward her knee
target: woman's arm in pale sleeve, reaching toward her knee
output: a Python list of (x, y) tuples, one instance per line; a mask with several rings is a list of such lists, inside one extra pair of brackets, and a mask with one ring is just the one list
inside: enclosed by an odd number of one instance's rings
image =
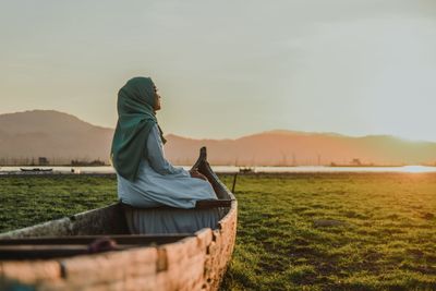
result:
[(152, 168), (160, 174), (183, 173), (191, 177), (183, 168), (174, 168), (166, 158), (164, 153), (164, 144), (157, 125), (153, 126), (147, 140), (147, 155)]

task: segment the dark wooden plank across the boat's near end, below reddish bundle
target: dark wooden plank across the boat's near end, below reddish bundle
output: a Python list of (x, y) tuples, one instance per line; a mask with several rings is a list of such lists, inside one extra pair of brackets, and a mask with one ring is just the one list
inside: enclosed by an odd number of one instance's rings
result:
[(74, 237), (34, 237), (22, 239), (0, 240), (0, 245), (20, 245), (20, 244), (89, 244), (97, 239), (108, 238), (117, 244), (165, 244), (180, 241), (187, 237), (194, 237), (193, 233), (174, 234), (118, 234), (118, 235), (74, 235)]

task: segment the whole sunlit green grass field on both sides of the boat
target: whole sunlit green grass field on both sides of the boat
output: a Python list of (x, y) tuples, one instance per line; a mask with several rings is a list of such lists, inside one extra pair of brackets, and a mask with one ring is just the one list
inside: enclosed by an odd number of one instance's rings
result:
[[(434, 173), (245, 175), (235, 192), (223, 290), (436, 290)], [(1, 177), (0, 231), (116, 199), (114, 178)]]

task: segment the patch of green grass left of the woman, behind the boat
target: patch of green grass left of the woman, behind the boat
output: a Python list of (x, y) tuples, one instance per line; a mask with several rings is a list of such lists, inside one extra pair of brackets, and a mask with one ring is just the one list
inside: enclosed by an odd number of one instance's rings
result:
[(114, 202), (114, 177), (0, 175), (0, 232)]

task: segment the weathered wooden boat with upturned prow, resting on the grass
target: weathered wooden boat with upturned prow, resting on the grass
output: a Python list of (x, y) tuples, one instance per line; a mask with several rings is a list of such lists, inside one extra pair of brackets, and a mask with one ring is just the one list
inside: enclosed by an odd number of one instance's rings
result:
[[(0, 234), (0, 290), (217, 290), (234, 246), (238, 203), (210, 169), (206, 148), (193, 168), (209, 179), (218, 201), (193, 209), (118, 203)], [(134, 211), (220, 217), (189, 233), (132, 234)]]

